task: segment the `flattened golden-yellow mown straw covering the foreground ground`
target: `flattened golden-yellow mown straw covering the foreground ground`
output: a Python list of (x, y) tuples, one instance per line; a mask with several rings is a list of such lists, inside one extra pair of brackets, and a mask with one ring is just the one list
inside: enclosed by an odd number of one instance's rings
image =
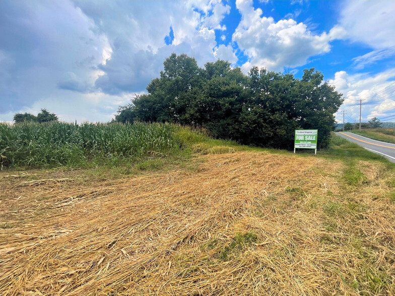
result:
[(395, 292), (393, 189), (374, 165), (351, 191), (344, 165), (314, 157), (196, 161), (198, 172), (78, 189), (65, 176), (10, 183), (1, 191), (10, 226), (0, 229), (0, 294)]

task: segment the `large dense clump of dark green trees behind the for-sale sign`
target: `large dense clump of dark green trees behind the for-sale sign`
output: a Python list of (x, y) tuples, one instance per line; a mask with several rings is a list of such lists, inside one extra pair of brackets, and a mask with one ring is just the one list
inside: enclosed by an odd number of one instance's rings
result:
[(295, 129), (318, 129), (318, 147), (326, 147), (343, 102), (314, 68), (305, 69), (302, 79), (258, 67), (245, 75), (227, 61), (201, 68), (175, 53), (147, 91), (120, 107), (115, 120), (206, 127), (218, 138), (283, 149), (293, 149)]

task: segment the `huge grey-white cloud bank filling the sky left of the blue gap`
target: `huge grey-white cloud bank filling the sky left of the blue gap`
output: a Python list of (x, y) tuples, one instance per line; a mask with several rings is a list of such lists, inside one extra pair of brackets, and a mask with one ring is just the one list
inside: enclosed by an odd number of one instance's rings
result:
[[(109, 120), (145, 91), (172, 52), (232, 63), (215, 30), (230, 6), (198, 2), (0, 3), (0, 120), (47, 108), (61, 120)], [(174, 40), (166, 45), (170, 27)]]

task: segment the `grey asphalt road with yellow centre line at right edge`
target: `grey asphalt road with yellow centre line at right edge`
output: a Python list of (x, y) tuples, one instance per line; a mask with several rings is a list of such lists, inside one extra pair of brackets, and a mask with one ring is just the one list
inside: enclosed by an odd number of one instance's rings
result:
[(372, 140), (352, 132), (337, 132), (336, 134), (395, 163), (395, 144)]

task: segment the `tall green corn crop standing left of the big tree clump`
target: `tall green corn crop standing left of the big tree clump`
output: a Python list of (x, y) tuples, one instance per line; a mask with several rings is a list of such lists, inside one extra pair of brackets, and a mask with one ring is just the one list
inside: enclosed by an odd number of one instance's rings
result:
[(171, 154), (182, 144), (177, 130), (161, 123), (0, 123), (0, 163), (2, 168), (80, 166), (93, 158)]

